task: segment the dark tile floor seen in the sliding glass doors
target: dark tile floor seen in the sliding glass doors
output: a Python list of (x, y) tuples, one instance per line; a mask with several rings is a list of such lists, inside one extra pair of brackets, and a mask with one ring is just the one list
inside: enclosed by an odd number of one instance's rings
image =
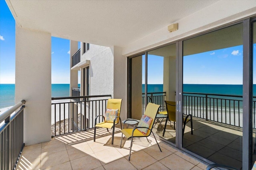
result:
[[(168, 124), (164, 139), (175, 143), (175, 130)], [(155, 129), (162, 137), (163, 129)], [(255, 135), (255, 134), (254, 134)], [(242, 129), (204, 121), (193, 117), (193, 135), (190, 122), (186, 124), (183, 147), (212, 162), (242, 169)]]

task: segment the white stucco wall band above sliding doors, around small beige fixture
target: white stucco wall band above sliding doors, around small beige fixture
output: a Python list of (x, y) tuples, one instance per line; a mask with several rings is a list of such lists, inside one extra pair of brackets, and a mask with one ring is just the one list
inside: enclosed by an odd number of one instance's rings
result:
[(132, 55), (146, 49), (241, 20), (248, 16), (256, 15), (255, 6), (255, 0), (218, 1), (188, 17), (176, 21), (175, 23), (178, 23), (177, 31), (170, 33), (167, 29), (168, 25), (166, 25), (158, 31), (150, 33), (145, 37), (126, 45), (123, 47), (122, 54), (124, 56)]

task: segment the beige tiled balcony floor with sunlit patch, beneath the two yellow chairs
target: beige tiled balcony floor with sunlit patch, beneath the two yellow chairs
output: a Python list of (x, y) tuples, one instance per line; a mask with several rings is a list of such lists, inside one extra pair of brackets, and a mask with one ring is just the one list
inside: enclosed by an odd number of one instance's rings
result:
[(114, 145), (110, 132), (93, 130), (55, 137), (52, 141), (25, 146), (17, 170), (204, 170), (206, 165), (187, 154), (153, 137), (134, 140), (128, 161), (130, 141), (124, 138), (120, 148), (121, 133), (116, 129)]

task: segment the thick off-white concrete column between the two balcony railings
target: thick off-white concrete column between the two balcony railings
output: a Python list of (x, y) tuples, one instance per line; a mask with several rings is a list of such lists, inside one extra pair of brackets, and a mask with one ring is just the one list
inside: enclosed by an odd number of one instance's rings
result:
[(51, 140), (51, 34), (16, 25), (15, 102), (26, 100), (24, 143)]

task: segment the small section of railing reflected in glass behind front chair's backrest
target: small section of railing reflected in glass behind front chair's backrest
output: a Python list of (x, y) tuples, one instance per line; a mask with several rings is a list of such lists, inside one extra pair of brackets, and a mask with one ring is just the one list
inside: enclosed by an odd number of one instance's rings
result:
[[(165, 109), (164, 107), (164, 98), (166, 96), (166, 92), (153, 92), (153, 93), (148, 93), (148, 102), (152, 102), (154, 104), (158, 104), (161, 107), (159, 108), (159, 111), (163, 111)], [(145, 111), (145, 106), (144, 106), (144, 102), (145, 102), (145, 93), (142, 93), (142, 114), (144, 114)]]

